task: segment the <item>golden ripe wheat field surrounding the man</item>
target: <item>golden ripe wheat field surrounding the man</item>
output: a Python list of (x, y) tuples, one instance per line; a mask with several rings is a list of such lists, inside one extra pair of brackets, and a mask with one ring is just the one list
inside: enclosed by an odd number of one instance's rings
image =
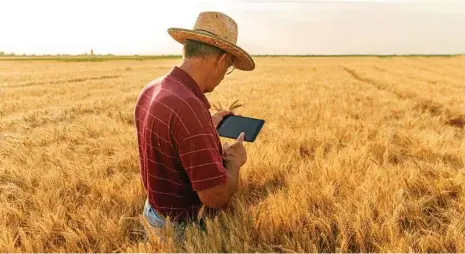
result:
[(265, 126), (180, 244), (141, 219), (133, 121), (180, 59), (0, 61), (0, 251), (465, 252), (464, 56), (255, 60), (207, 97)]

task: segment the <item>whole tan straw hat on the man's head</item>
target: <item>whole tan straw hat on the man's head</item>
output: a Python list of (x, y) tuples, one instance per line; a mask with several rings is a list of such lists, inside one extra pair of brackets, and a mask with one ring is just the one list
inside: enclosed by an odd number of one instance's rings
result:
[(168, 33), (181, 44), (184, 44), (186, 39), (196, 40), (230, 53), (234, 56), (234, 66), (239, 70), (251, 71), (255, 68), (252, 57), (236, 45), (236, 22), (224, 13), (201, 12), (194, 29), (169, 28)]

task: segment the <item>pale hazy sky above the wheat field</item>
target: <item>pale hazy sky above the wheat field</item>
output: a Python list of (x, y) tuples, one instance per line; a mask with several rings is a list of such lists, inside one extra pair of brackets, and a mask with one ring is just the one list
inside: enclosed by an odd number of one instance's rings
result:
[(465, 0), (2, 0), (0, 51), (167, 55), (202, 11), (238, 24), (250, 54), (463, 54)]

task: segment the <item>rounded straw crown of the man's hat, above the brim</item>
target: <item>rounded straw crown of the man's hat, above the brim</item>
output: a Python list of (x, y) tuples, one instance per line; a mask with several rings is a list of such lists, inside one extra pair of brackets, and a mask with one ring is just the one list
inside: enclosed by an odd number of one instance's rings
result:
[(229, 43), (237, 43), (236, 22), (221, 12), (201, 12), (197, 17), (194, 30), (211, 33)]

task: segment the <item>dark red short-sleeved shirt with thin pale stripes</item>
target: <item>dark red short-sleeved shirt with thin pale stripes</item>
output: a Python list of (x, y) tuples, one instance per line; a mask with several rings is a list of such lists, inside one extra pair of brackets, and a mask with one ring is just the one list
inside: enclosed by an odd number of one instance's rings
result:
[(150, 205), (164, 216), (196, 216), (202, 206), (196, 191), (227, 180), (210, 107), (178, 67), (139, 94), (134, 113), (142, 182)]

